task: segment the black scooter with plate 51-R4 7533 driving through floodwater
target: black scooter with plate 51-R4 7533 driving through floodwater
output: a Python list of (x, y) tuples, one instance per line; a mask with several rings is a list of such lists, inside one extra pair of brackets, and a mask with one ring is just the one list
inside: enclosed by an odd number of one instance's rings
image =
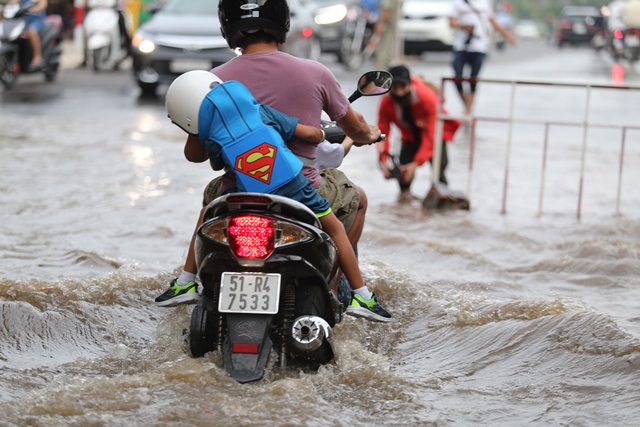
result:
[[(386, 93), (391, 83), (386, 71), (365, 73), (349, 100)], [(323, 128), (332, 142), (345, 137), (335, 122)], [(240, 383), (263, 377), (272, 349), (281, 368), (315, 370), (335, 357), (332, 327), (351, 291), (335, 244), (309, 208), (273, 194), (218, 197), (205, 210), (195, 251), (203, 291), (191, 315), (191, 356), (220, 352)], [(342, 301), (338, 283), (349, 295)]]

